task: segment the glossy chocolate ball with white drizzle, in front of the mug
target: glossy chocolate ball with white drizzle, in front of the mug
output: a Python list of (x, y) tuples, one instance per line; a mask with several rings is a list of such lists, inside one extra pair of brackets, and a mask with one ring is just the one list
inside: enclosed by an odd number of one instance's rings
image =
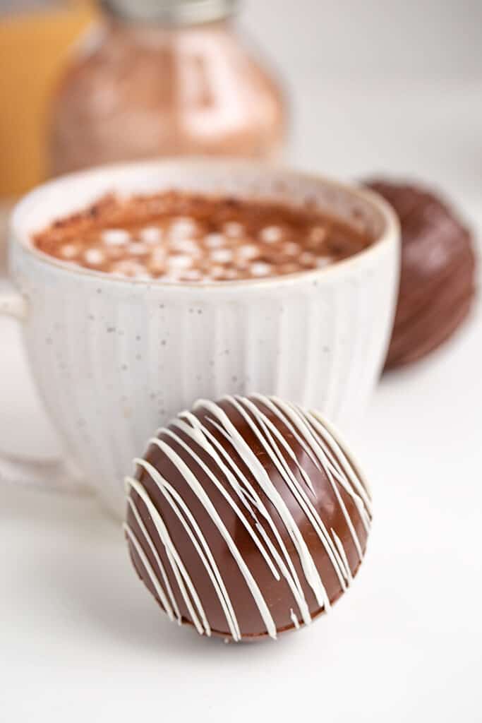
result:
[(363, 559), (371, 499), (321, 416), (274, 397), (199, 401), (126, 480), (126, 539), (171, 620), (245, 641), (328, 612)]

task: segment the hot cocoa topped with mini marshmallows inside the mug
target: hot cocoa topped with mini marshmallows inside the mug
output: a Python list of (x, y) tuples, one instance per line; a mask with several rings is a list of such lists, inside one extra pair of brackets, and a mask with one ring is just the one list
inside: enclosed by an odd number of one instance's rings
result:
[(185, 283), (324, 268), (372, 241), (311, 207), (177, 191), (108, 195), (33, 237), (41, 252), (72, 265)]

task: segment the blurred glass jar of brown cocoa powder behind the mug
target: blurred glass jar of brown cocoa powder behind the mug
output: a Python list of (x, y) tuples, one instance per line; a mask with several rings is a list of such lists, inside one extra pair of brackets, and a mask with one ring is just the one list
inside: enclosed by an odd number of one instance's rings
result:
[(277, 82), (233, 27), (235, 0), (103, 0), (53, 103), (51, 174), (162, 155), (275, 158)]

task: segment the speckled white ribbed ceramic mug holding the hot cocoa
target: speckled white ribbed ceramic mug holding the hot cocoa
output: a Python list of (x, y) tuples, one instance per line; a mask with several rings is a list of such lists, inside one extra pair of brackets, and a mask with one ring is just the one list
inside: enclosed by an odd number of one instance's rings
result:
[[(182, 189), (302, 204), (361, 224), (376, 241), (327, 268), (256, 281), (129, 281), (33, 248), (33, 231), (100, 195)], [(135, 163), (66, 176), (14, 209), (9, 267), (27, 356), (66, 457), (106, 507), (124, 512), (124, 475), (161, 424), (197, 398), (275, 394), (339, 424), (363, 410), (392, 328), (399, 230), (376, 195), (328, 179), (231, 161)], [(3, 474), (45, 470), (3, 460)], [(63, 484), (64, 463), (48, 467)]]

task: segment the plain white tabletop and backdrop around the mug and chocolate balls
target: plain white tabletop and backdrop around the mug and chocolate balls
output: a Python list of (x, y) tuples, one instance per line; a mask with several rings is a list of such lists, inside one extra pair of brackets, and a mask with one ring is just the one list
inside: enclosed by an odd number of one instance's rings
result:
[[(286, 78), (291, 160), (417, 176), (482, 229), (482, 4), (251, 0)], [(1, 323), (0, 442), (56, 448)], [(90, 499), (0, 488), (0, 721), (482, 720), (481, 302), (384, 377), (352, 433), (375, 502), (353, 589), (311, 628), (225, 646), (179, 630)]]

